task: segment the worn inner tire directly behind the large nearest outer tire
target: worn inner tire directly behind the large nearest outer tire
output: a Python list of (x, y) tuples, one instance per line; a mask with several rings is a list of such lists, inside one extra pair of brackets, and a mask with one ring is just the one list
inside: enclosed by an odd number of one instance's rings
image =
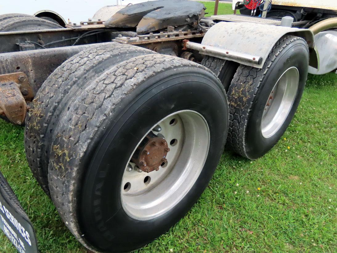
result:
[(43, 83), (26, 116), (25, 150), (29, 167), (48, 194), (48, 164), (54, 129), (64, 108), (80, 88), (121, 61), (153, 51), (110, 42), (84, 50), (65, 61)]

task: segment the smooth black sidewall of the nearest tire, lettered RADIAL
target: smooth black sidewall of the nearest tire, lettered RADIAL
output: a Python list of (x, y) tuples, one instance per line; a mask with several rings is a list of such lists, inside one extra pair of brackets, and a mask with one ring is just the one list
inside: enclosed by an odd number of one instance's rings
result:
[[(125, 166), (149, 128), (180, 110), (197, 111), (208, 123), (211, 139), (205, 166), (191, 190), (175, 207), (152, 220), (134, 220), (121, 206)], [(166, 232), (200, 197), (222, 154), (228, 105), (214, 74), (198, 67), (179, 67), (158, 73), (138, 85), (114, 109), (113, 115), (101, 128), (105, 134), (97, 137), (97, 144), (85, 155), (82, 169), (87, 168), (87, 172), (78, 214), (85, 239), (94, 248), (130, 251)]]

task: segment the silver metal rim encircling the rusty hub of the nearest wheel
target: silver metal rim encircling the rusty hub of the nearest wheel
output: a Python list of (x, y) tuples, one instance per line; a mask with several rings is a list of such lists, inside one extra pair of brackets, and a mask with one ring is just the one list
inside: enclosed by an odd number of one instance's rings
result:
[[(159, 132), (153, 128), (160, 125)], [(168, 212), (177, 205), (193, 187), (206, 162), (210, 132), (205, 118), (198, 112), (183, 110), (166, 116), (150, 132), (165, 140), (175, 140), (169, 145), (167, 161), (158, 171), (139, 172), (134, 163), (125, 166), (121, 184), (121, 203), (124, 211), (133, 219), (150, 220)], [(138, 143), (137, 147), (141, 144)], [(133, 152), (137, 149), (134, 148)], [(133, 170), (129, 171), (129, 166)], [(126, 184), (127, 191), (124, 189)]]

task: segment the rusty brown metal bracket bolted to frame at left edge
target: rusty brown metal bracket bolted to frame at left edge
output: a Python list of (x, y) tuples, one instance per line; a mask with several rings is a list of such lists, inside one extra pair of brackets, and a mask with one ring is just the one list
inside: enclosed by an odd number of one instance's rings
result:
[(22, 73), (0, 75), (0, 115), (14, 124), (21, 125), (26, 117), (26, 102), (33, 99), (33, 89)]

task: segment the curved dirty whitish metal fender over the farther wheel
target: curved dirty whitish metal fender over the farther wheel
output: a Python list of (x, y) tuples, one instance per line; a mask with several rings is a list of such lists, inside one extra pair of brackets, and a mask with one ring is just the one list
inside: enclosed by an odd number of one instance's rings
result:
[[(202, 40), (202, 46), (211, 46), (225, 51), (225, 54), (203, 52), (201, 54), (232, 60), (238, 63), (262, 68), (276, 42), (285, 34), (302, 37), (310, 49), (310, 66), (317, 68), (317, 56), (314, 50), (314, 35), (309, 29), (298, 29), (283, 26), (264, 25), (248, 22), (219, 22), (212, 26)], [(205, 47), (206, 48), (206, 47)], [(207, 48), (206, 50), (207, 51)], [(233, 55), (240, 53), (262, 57), (262, 61), (254, 62)]]

